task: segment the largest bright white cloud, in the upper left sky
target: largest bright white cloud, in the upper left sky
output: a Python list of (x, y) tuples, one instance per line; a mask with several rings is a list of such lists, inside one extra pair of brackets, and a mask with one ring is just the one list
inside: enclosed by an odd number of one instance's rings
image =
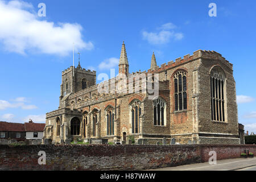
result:
[(65, 56), (73, 43), (76, 49), (93, 49), (92, 42), (82, 40), (80, 24), (40, 20), (33, 11), (30, 3), (0, 0), (0, 42), (6, 51)]

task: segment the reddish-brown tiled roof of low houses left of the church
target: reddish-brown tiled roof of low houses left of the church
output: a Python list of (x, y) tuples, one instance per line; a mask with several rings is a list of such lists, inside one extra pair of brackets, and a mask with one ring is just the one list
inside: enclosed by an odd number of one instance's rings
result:
[(0, 121), (0, 131), (26, 132), (26, 131), (43, 131), (46, 124), (44, 123), (9, 123)]

